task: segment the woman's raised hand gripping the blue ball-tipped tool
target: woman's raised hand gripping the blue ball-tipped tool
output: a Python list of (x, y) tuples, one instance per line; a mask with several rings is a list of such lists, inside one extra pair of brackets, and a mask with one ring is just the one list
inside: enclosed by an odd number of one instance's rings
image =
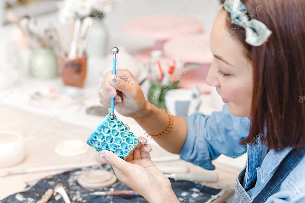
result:
[(117, 112), (126, 117), (142, 114), (147, 107), (147, 100), (140, 85), (127, 69), (117, 70), (116, 75), (109, 71), (105, 74), (99, 88), (99, 102), (110, 107), (111, 98)]

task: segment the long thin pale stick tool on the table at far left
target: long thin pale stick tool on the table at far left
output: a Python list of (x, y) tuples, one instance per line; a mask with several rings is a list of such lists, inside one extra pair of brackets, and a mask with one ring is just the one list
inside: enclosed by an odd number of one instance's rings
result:
[(27, 168), (27, 169), (20, 169), (20, 170), (13, 170), (13, 171), (7, 171), (7, 170), (0, 170), (0, 177), (5, 177), (9, 175), (16, 175), (16, 174), (25, 174), (25, 173), (38, 173), (43, 171), (52, 171), (52, 170), (72, 170), (82, 167), (88, 167), (88, 166), (95, 166), (97, 163), (85, 163), (85, 164), (78, 164), (78, 165), (59, 165), (59, 166), (42, 166), (42, 167), (36, 167), (36, 168)]

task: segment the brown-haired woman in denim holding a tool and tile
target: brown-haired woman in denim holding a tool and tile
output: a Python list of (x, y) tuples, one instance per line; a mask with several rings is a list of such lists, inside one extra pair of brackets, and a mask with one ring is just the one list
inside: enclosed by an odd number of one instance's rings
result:
[[(213, 24), (206, 78), (226, 103), (221, 112), (174, 116), (168, 128), (168, 115), (144, 99), (127, 70), (105, 75), (100, 102), (109, 107), (115, 97), (118, 113), (163, 135), (156, 138), (161, 147), (205, 169), (213, 170), (211, 160), (220, 154), (247, 152), (234, 202), (305, 202), (304, 10), (303, 0), (226, 0)], [(149, 202), (179, 202), (140, 139), (126, 161), (107, 150), (100, 155)]]

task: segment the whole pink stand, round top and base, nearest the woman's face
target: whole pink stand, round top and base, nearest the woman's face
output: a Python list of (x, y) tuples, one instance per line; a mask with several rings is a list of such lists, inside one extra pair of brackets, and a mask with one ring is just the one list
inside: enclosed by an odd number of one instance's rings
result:
[(213, 61), (209, 34), (176, 37), (164, 44), (163, 51), (170, 58), (178, 57), (185, 63), (199, 64), (196, 69), (189, 70), (181, 77), (179, 88), (192, 89), (197, 85), (201, 93), (210, 93), (211, 86), (206, 84), (206, 75)]

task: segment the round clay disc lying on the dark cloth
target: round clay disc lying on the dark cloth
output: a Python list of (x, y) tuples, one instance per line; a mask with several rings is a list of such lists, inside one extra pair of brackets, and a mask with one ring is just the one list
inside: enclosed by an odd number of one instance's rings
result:
[(85, 189), (102, 189), (117, 182), (115, 174), (107, 170), (89, 170), (77, 178), (78, 184)]

